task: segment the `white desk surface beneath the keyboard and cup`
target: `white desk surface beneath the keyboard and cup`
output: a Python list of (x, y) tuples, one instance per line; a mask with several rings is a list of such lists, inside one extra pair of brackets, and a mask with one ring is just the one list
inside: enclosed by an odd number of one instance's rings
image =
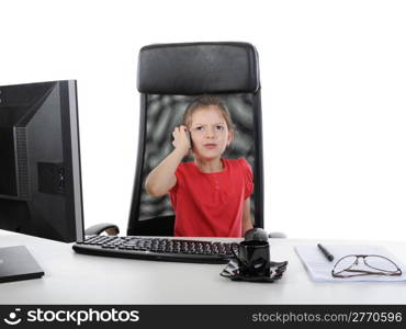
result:
[[(405, 283), (311, 281), (293, 246), (315, 241), (270, 242), (272, 260), (289, 261), (273, 284), (232, 282), (219, 275), (224, 265), (86, 256), (71, 245), (0, 230), (0, 247), (25, 245), (45, 271), (40, 280), (1, 283), (0, 304), (406, 304)], [(374, 243), (406, 263), (406, 242)]]

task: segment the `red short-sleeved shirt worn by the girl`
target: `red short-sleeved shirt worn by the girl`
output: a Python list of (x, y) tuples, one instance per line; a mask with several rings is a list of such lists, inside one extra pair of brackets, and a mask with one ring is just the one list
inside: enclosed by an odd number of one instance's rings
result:
[(201, 172), (194, 162), (180, 163), (169, 191), (177, 237), (241, 237), (244, 201), (253, 190), (245, 159), (222, 159), (221, 172)]

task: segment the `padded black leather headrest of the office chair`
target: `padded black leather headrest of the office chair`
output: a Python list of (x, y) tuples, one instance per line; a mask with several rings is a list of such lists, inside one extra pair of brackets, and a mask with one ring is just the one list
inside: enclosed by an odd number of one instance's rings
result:
[(258, 54), (248, 43), (179, 43), (143, 47), (138, 91), (155, 94), (257, 92)]

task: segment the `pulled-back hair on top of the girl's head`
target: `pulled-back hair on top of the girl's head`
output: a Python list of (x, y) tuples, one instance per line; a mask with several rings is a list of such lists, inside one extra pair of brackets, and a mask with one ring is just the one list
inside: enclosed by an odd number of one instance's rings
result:
[(183, 113), (183, 125), (185, 125), (189, 128), (191, 125), (193, 113), (196, 112), (198, 110), (201, 110), (202, 107), (208, 106), (218, 107), (219, 112), (222, 113), (227, 124), (228, 131), (230, 132), (235, 131), (235, 125), (232, 121), (232, 116), (229, 115), (227, 106), (219, 98), (211, 95), (198, 97), (188, 105), (187, 110)]

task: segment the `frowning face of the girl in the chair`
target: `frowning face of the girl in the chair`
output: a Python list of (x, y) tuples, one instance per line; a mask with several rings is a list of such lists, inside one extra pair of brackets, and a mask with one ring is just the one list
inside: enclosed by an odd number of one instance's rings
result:
[(198, 109), (190, 124), (193, 154), (203, 159), (219, 158), (233, 139), (221, 110), (211, 105)]

